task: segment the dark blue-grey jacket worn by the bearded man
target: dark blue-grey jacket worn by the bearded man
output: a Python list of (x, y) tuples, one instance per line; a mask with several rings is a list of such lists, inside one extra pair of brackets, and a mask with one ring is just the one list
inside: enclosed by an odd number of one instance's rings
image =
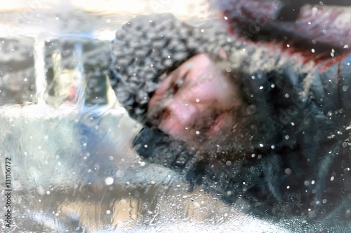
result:
[(146, 160), (184, 174), (190, 190), (203, 185), (263, 218), (350, 222), (351, 55), (334, 63), (311, 73), (291, 64), (241, 73), (260, 127), (248, 130), (260, 135), (263, 146), (242, 151), (230, 164), (199, 159), (196, 151), (147, 127), (135, 148)]

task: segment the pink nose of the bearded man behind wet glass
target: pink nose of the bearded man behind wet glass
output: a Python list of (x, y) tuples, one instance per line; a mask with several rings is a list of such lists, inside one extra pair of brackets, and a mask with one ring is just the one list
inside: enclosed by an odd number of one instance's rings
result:
[(183, 101), (172, 101), (168, 111), (173, 114), (183, 127), (191, 127), (199, 114), (199, 109), (193, 104)]

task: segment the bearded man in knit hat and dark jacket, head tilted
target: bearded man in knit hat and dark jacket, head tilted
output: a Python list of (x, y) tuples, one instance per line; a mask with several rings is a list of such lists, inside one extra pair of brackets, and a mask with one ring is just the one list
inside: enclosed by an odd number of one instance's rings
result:
[(302, 66), (220, 27), (140, 16), (117, 31), (111, 84), (150, 162), (261, 217), (350, 220), (351, 57)]

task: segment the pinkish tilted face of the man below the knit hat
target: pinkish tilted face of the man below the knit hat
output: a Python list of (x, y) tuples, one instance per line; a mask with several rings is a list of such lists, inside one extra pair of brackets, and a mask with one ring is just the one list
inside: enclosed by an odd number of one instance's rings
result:
[(195, 55), (169, 73), (148, 105), (148, 120), (177, 139), (192, 142), (235, 124), (241, 103), (237, 86), (206, 54)]

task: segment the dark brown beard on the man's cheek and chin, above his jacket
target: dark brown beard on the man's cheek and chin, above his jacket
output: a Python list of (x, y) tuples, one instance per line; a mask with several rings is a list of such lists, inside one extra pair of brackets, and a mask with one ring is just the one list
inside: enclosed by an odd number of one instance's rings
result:
[(206, 132), (195, 133), (193, 130), (188, 140), (184, 141), (185, 148), (210, 159), (214, 157), (216, 160), (228, 161), (237, 160), (247, 151), (267, 144), (264, 141), (270, 139), (267, 138), (267, 134), (263, 137), (262, 130), (265, 127), (262, 127), (256, 113), (248, 111), (250, 107), (233, 108), (223, 114), (223, 125), (216, 134), (208, 136)]

